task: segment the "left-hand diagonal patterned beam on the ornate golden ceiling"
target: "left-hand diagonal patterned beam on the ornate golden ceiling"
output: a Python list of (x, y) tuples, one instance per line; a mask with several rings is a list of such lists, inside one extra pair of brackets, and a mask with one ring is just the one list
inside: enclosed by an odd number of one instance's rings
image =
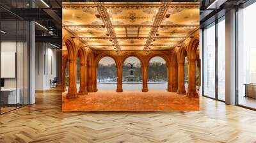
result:
[(108, 30), (109, 36), (112, 38), (112, 41), (116, 47), (116, 50), (121, 50), (118, 40), (116, 39), (116, 33), (115, 30), (112, 26), (111, 20), (108, 15), (108, 11), (106, 8), (103, 6), (101, 2), (96, 2), (97, 3), (97, 10), (99, 11), (100, 17), (103, 20), (106, 29)]

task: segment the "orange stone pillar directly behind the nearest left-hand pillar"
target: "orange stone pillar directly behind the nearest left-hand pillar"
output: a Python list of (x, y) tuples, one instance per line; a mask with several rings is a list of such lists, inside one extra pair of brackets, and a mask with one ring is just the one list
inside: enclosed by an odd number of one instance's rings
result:
[(86, 89), (86, 82), (84, 80), (86, 80), (86, 71), (85, 71), (85, 64), (84, 63), (80, 63), (80, 87), (79, 87), (79, 95), (84, 95), (87, 94), (87, 89)]

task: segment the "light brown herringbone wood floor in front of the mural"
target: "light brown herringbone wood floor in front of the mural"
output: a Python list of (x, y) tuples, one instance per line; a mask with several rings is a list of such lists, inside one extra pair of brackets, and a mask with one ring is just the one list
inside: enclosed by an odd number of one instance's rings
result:
[(200, 98), (200, 109), (63, 113), (54, 89), (0, 116), (0, 142), (256, 142), (255, 111), (209, 98)]

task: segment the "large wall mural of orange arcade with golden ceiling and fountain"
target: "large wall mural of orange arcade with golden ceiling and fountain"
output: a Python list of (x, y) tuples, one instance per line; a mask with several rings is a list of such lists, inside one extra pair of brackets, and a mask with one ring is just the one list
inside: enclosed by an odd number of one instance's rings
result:
[(62, 18), (63, 111), (199, 110), (199, 3), (63, 2)]

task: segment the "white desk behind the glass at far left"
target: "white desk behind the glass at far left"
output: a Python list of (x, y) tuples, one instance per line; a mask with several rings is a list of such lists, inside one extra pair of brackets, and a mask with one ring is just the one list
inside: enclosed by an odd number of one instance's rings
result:
[(4, 104), (17, 104), (20, 103), (20, 89), (17, 89), (18, 94), (16, 97), (16, 88), (1, 89), (1, 102)]

